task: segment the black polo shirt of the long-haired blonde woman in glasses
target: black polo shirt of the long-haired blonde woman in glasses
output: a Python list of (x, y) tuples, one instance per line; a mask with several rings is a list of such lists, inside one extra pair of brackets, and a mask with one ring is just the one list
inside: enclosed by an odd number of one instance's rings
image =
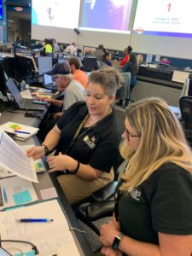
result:
[(137, 241), (159, 244), (158, 232), (191, 235), (192, 175), (166, 163), (131, 193), (123, 193), (117, 207), (121, 232)]

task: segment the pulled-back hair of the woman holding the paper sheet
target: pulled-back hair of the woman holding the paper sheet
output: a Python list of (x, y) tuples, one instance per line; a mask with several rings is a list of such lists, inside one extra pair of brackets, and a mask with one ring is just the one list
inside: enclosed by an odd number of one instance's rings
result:
[(100, 84), (108, 96), (113, 96), (123, 81), (121, 74), (113, 67), (99, 69), (90, 73), (89, 83)]

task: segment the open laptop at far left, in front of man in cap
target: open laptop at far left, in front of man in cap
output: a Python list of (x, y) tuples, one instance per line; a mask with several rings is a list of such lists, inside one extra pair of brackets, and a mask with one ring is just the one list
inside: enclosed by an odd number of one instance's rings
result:
[(6, 82), (6, 85), (20, 109), (39, 110), (39, 111), (46, 110), (44, 105), (37, 104), (37, 103), (35, 104), (35, 103), (33, 103), (34, 100), (32, 100), (32, 99), (22, 98), (20, 91), (18, 90), (13, 79), (10, 78)]

